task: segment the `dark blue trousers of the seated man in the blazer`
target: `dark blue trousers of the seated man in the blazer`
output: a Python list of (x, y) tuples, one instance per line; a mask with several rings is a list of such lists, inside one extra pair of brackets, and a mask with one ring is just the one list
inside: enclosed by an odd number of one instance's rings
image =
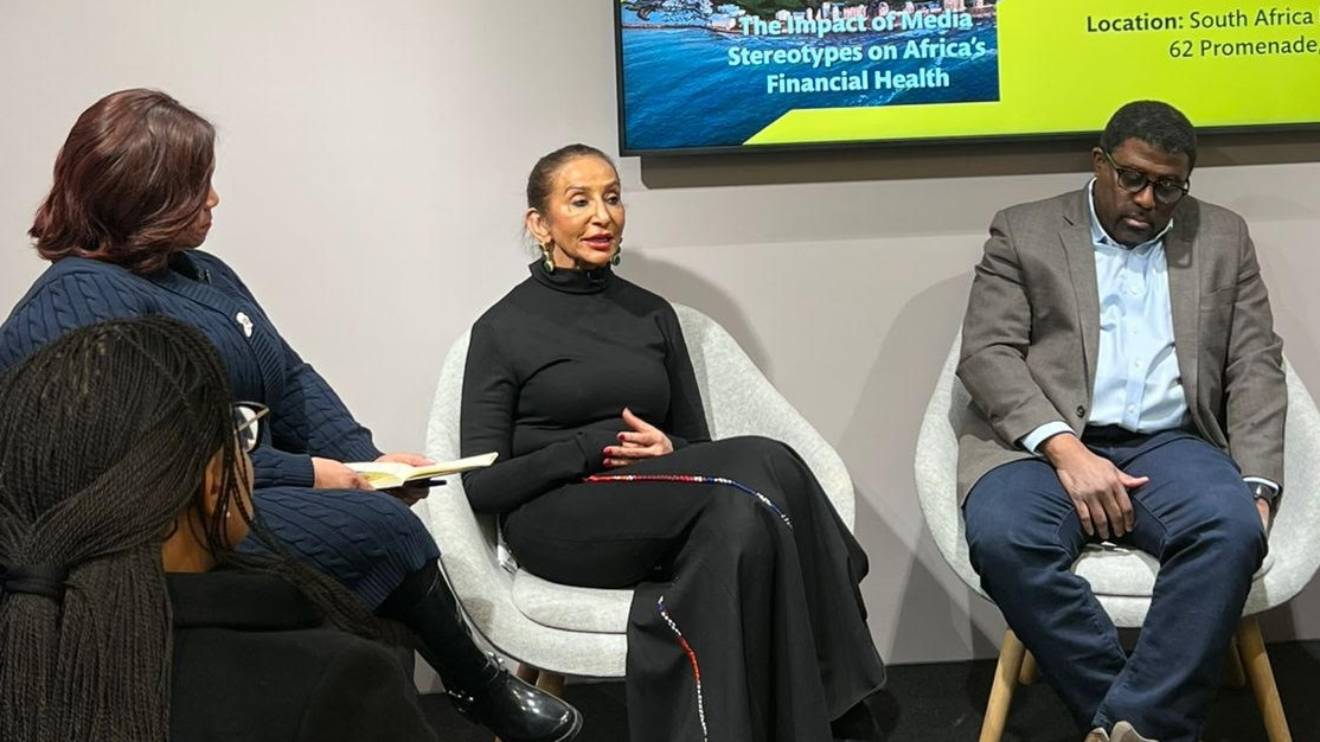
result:
[(972, 565), (1082, 729), (1126, 720), (1144, 737), (1195, 742), (1265, 558), (1261, 516), (1233, 461), (1196, 436), (1098, 433), (1082, 437), (1092, 452), (1150, 477), (1131, 492), (1134, 531), (1117, 540), (1160, 562), (1131, 655), (1071, 570), (1088, 539), (1047, 461), (1007, 463), (972, 489)]

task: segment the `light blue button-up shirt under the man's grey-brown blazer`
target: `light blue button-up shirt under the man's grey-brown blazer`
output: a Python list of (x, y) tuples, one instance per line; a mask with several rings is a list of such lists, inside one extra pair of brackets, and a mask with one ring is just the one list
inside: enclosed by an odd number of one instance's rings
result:
[[(1096, 181), (1086, 186), (1090, 240), (1100, 290), (1100, 355), (1090, 425), (1119, 425), (1134, 433), (1158, 433), (1187, 424), (1187, 396), (1173, 353), (1173, 309), (1168, 296), (1164, 227), (1154, 239), (1125, 247), (1105, 232), (1096, 217)], [(1067, 422), (1047, 422), (1022, 445), (1035, 453), (1045, 438), (1069, 432)]]

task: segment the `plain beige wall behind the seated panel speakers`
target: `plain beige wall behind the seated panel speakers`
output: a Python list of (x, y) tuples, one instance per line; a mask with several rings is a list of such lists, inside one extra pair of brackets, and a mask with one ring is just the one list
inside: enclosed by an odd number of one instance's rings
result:
[[(42, 268), (24, 232), (78, 112), (165, 88), (220, 131), (207, 248), (388, 448), (421, 446), (449, 342), (525, 275), (532, 161), (614, 148), (607, 3), (3, 0), (0, 17), (0, 304)], [(1317, 160), (1307, 137), (1238, 139), (1195, 178), (1251, 222), (1313, 388)], [(620, 162), (623, 273), (725, 323), (847, 461), (892, 660), (998, 642), (924, 532), (916, 426), (991, 214), (1080, 186), (1084, 166), (1057, 145)], [(1312, 588), (1269, 628), (1320, 638), (1317, 609)]]

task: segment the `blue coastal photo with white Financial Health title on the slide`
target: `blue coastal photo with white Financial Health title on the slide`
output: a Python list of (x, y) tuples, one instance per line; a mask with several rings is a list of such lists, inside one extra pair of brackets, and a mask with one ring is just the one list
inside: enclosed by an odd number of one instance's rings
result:
[(630, 149), (741, 145), (788, 111), (999, 98), (994, 0), (622, 0)]

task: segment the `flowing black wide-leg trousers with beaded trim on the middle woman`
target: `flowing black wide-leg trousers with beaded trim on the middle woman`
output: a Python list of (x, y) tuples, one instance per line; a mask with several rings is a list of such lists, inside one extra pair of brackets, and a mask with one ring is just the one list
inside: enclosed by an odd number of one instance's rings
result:
[(883, 685), (866, 555), (792, 449), (727, 438), (602, 478), (528, 502), (504, 537), (546, 580), (636, 589), (632, 742), (829, 742)]

